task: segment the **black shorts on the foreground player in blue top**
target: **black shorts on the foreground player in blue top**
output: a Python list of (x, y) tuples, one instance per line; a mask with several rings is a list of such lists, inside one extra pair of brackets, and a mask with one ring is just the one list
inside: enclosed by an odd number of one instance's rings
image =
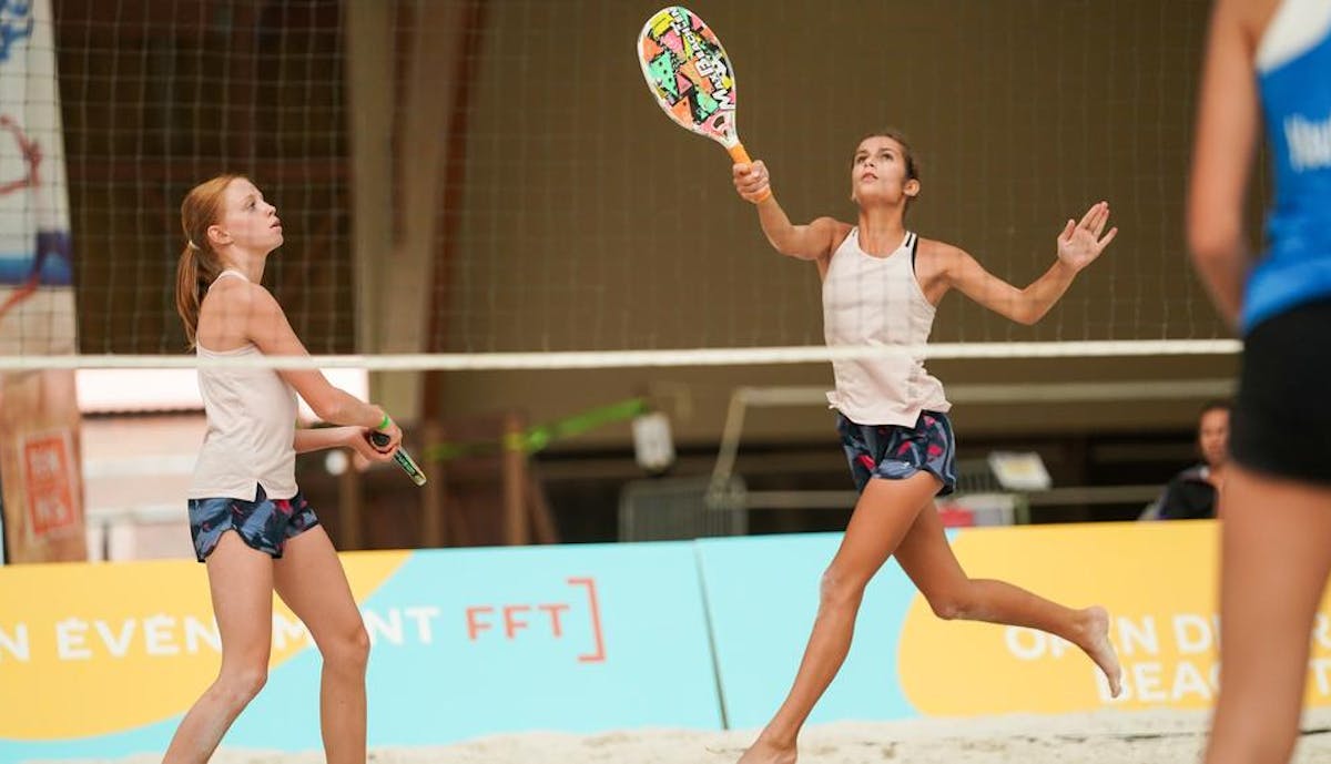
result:
[(1230, 430), (1252, 471), (1331, 486), (1331, 299), (1258, 323), (1243, 341)]

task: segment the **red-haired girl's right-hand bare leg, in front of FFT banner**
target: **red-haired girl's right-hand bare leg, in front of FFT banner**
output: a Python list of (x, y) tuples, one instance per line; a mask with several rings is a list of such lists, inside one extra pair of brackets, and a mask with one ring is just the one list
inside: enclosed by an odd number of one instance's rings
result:
[(277, 594), (310, 630), (323, 656), (319, 728), (327, 764), (365, 764), (370, 638), (323, 527), (287, 540), (273, 571)]

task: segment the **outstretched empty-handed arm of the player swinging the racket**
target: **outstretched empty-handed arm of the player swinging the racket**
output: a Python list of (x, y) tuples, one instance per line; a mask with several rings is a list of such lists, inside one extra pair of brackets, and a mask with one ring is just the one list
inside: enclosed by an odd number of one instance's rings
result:
[(1114, 241), (1118, 234), (1117, 228), (1101, 238), (1106, 222), (1109, 222), (1106, 202), (1086, 210), (1081, 222), (1069, 220), (1058, 237), (1058, 260), (1025, 289), (1017, 289), (993, 276), (974, 257), (956, 246), (938, 246), (937, 268), (946, 287), (960, 290), (970, 299), (1017, 323), (1036, 323), (1067, 291), (1077, 273), (1094, 262), (1109, 242)]

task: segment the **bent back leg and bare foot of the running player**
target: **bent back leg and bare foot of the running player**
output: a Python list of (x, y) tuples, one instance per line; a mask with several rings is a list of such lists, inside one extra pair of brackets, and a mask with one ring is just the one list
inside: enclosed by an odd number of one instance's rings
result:
[(1110, 693), (1118, 696), (1122, 669), (1109, 640), (1105, 608), (1073, 610), (1006, 582), (968, 578), (932, 502), (916, 518), (896, 556), (938, 618), (1025, 626), (1061, 636), (1095, 662)]

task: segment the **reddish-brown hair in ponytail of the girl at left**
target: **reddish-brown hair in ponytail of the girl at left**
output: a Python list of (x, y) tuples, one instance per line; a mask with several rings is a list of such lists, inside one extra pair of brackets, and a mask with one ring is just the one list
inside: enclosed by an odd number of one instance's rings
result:
[(176, 266), (176, 311), (185, 322), (185, 339), (194, 346), (198, 330), (198, 306), (209, 285), (222, 272), (222, 258), (208, 238), (208, 229), (222, 218), (226, 186), (241, 176), (224, 174), (201, 182), (185, 194), (180, 205), (180, 225), (185, 248)]

